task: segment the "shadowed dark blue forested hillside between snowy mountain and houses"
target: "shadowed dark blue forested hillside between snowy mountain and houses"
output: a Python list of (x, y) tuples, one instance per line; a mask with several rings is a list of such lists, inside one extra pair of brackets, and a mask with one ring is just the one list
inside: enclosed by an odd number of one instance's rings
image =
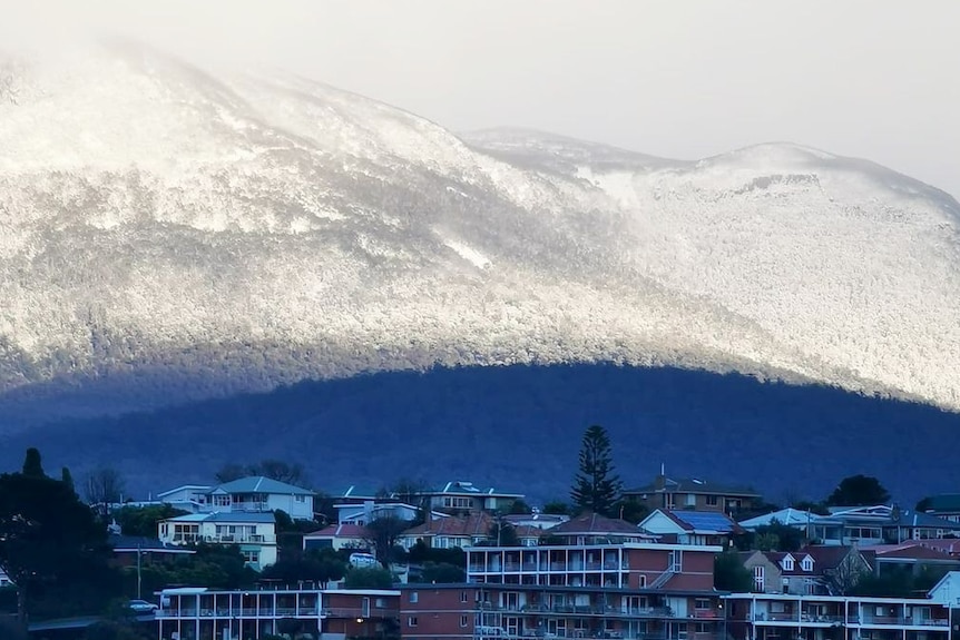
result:
[(473, 480), (566, 495), (579, 436), (610, 433), (627, 484), (674, 474), (822, 498), (876, 475), (904, 503), (960, 488), (960, 415), (822, 386), (611, 365), (437, 368), (304, 382), (154, 413), (35, 426), (0, 441), (0, 466), (114, 464), (137, 494), (209, 481), (225, 462), (303, 463), (317, 489)]

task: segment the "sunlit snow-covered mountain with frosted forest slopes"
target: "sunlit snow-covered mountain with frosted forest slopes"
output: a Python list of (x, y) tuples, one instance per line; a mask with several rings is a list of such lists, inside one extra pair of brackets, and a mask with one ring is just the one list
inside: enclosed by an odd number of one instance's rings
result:
[(0, 69), (8, 400), (157, 372), (205, 381), (166, 403), (613, 361), (960, 408), (960, 205), (871, 163), (458, 136), (128, 43)]

